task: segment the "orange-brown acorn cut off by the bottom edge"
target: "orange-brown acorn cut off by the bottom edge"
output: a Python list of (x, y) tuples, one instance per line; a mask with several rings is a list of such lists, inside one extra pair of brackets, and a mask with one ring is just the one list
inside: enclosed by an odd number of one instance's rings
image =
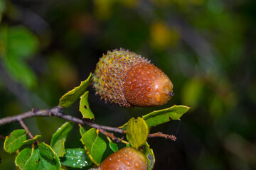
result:
[(147, 170), (146, 156), (133, 147), (124, 147), (107, 157), (100, 170)]

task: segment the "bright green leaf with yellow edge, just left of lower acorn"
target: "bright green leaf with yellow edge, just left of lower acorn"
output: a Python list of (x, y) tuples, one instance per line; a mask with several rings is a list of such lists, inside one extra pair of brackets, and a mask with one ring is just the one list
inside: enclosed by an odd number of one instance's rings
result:
[(82, 144), (89, 153), (89, 157), (97, 165), (100, 165), (102, 156), (107, 149), (107, 144), (99, 137), (95, 128), (91, 128), (81, 138)]

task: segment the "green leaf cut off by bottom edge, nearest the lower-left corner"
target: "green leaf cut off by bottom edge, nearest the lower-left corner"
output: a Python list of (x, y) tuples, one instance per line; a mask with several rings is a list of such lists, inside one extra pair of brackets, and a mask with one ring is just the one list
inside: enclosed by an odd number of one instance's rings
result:
[(33, 170), (37, 168), (39, 162), (39, 153), (37, 149), (26, 147), (15, 159), (15, 164), (22, 170)]

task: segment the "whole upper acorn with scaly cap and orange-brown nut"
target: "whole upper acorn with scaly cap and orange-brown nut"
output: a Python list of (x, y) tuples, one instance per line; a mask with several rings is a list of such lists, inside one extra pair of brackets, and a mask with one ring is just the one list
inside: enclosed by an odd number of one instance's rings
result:
[(161, 106), (174, 95), (174, 85), (161, 69), (122, 48), (100, 58), (93, 81), (102, 99), (127, 108)]

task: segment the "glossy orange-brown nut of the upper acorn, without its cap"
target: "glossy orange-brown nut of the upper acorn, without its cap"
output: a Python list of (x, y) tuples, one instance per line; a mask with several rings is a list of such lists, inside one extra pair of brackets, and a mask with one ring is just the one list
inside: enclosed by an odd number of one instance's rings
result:
[(171, 98), (173, 87), (161, 69), (141, 62), (127, 73), (124, 96), (132, 106), (161, 106)]

